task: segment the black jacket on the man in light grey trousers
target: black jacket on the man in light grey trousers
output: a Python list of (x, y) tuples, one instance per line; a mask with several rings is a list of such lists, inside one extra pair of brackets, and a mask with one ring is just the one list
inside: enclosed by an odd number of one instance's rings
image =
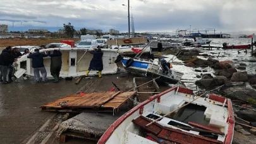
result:
[(29, 54), (28, 58), (32, 59), (32, 68), (42, 68), (44, 67), (44, 58), (47, 57), (47, 54), (42, 52), (35, 52), (33, 54)]

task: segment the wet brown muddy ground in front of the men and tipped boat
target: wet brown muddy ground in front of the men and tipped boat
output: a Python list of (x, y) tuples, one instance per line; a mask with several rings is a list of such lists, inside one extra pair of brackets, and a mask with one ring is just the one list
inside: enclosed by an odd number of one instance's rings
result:
[(108, 91), (113, 88), (112, 81), (121, 90), (131, 88), (133, 77), (126, 75), (122, 78), (121, 75), (83, 79), (78, 85), (74, 78), (60, 83), (34, 83), (30, 78), (20, 83), (0, 84), (0, 143), (27, 143), (47, 119), (58, 115), (57, 112), (41, 111), (42, 104), (78, 92)]

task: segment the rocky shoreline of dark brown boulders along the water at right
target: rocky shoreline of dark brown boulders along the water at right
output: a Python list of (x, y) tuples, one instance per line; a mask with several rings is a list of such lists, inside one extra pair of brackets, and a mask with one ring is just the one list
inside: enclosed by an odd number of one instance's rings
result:
[[(169, 49), (165, 54), (175, 55), (177, 52), (178, 49)], [(200, 59), (198, 56), (202, 56), (204, 59)], [(244, 135), (241, 138), (245, 138), (245, 140), (234, 138), (233, 143), (245, 143), (245, 141), (246, 143), (255, 143), (256, 75), (247, 74), (247, 64), (245, 63), (234, 64), (233, 61), (218, 61), (214, 57), (219, 57), (219, 53), (203, 54), (200, 49), (194, 48), (182, 49), (177, 58), (184, 61), (185, 66), (195, 68), (196, 72), (204, 72), (204, 74), (196, 75), (197, 78), (201, 78), (195, 81), (198, 88), (212, 90), (222, 86), (214, 93), (233, 101), (236, 122), (254, 127), (249, 128), (245, 125), (235, 124), (235, 136)], [(212, 68), (215, 72), (207, 73), (205, 68)]]

